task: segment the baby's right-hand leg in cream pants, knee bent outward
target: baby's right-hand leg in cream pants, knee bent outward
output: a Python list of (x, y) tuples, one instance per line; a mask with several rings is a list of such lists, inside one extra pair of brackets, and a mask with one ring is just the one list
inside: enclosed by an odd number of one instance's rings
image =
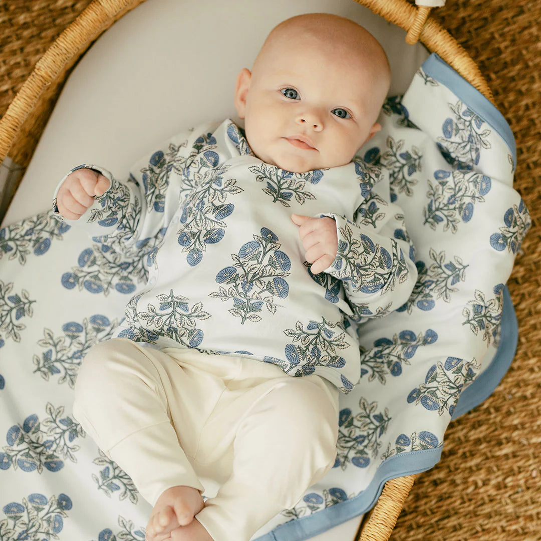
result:
[(248, 541), (332, 468), (338, 390), (326, 385), (317, 376), (280, 378), (242, 416), (232, 476), (195, 517), (214, 541)]

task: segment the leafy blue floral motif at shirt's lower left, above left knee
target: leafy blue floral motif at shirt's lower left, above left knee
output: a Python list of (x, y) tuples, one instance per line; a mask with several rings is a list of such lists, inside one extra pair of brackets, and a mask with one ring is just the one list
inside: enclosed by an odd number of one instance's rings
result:
[[(148, 304), (147, 312), (138, 311), (137, 302), (140, 295), (131, 299), (126, 307), (126, 323), (133, 334), (126, 336), (131, 340), (156, 342), (162, 336), (179, 342), (186, 347), (198, 347), (203, 341), (203, 331), (196, 327), (197, 320), (206, 320), (210, 314), (203, 310), (203, 303), (196, 302), (189, 307), (189, 298), (175, 295), (173, 289), (169, 293), (160, 293), (156, 298), (160, 306)], [(146, 321), (142, 328), (139, 320)]]

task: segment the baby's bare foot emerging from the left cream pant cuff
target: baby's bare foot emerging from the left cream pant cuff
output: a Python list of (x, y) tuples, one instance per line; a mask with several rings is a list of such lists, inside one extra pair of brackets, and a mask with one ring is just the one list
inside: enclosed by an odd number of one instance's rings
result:
[(164, 490), (150, 513), (147, 541), (171, 538), (171, 531), (186, 526), (203, 509), (199, 490), (191, 486), (173, 486)]

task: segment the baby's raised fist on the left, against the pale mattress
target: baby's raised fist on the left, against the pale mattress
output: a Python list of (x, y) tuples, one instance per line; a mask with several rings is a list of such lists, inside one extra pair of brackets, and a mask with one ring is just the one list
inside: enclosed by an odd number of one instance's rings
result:
[(109, 189), (109, 180), (91, 169), (70, 173), (56, 194), (58, 212), (68, 220), (78, 220), (94, 203), (94, 196)]

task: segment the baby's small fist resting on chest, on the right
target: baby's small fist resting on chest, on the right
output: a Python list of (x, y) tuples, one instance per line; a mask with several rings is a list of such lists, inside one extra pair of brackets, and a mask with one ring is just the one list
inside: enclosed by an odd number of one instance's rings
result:
[(319, 274), (334, 261), (338, 252), (336, 222), (332, 218), (311, 218), (292, 214), (291, 220), (299, 227), (302, 246), (306, 250), (305, 258), (312, 263), (310, 272)]

